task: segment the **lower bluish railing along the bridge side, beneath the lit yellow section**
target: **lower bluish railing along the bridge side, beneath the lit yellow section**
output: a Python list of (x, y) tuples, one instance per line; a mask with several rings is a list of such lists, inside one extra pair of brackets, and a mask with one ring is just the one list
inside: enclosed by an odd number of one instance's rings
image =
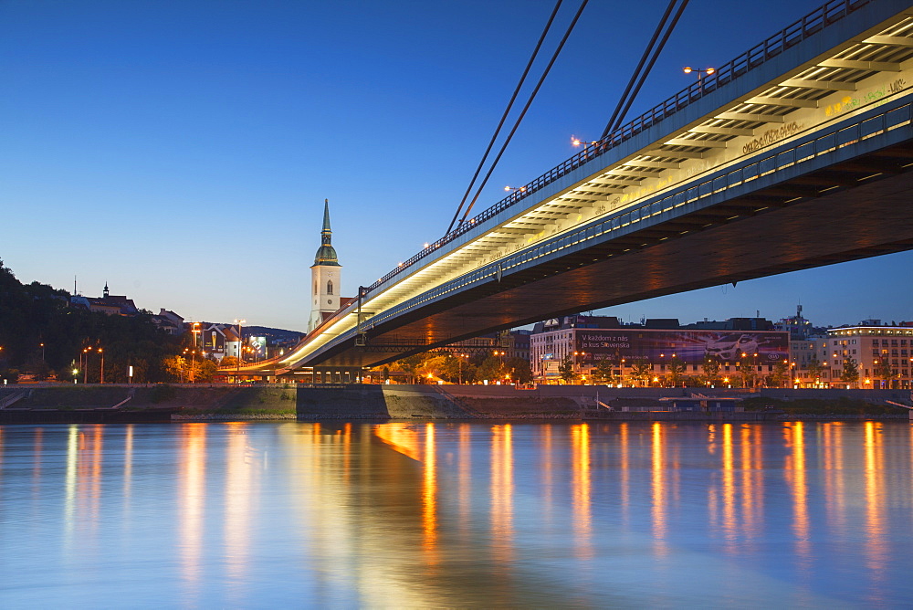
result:
[[(863, 142), (876, 135), (911, 124), (913, 124), (913, 103), (911, 102), (904, 102), (895, 108), (889, 108), (875, 115), (867, 112), (866, 115), (863, 115), (852, 124), (843, 124), (812, 139), (803, 139), (802, 142), (791, 148), (778, 150), (758, 161), (743, 162), (737, 168), (712, 175), (707, 180), (697, 184), (688, 184), (684, 188), (679, 188), (668, 195), (649, 199), (643, 205), (633, 209), (619, 212), (615, 216), (609, 216), (598, 222), (593, 222), (589, 226), (582, 226), (576, 231), (552, 237), (535, 246), (524, 248), (498, 262), (490, 263), (483, 268), (477, 268), (464, 276), (452, 279), (410, 300), (406, 300), (390, 310), (383, 311), (382, 314), (366, 321), (366, 324), (368, 326), (379, 324), (429, 300), (442, 297), (448, 292), (463, 289), (482, 280), (488, 281), (496, 277), (498, 273), (524, 265), (536, 258), (549, 256), (559, 250), (601, 237), (606, 233), (620, 232), (622, 229), (630, 231), (632, 229), (629, 227), (634, 226), (636, 228), (638, 223), (650, 217), (670, 212), (677, 207), (694, 203), (709, 195), (716, 195), (729, 188), (790, 168), (796, 163), (811, 161), (822, 155), (835, 153), (856, 142)], [(350, 338), (353, 332), (343, 333), (339, 339), (344, 341)]]

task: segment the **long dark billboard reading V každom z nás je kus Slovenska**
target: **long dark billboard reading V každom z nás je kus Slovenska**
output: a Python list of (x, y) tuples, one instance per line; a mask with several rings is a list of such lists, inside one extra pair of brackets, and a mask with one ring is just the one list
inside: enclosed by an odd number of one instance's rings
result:
[(790, 334), (782, 331), (645, 331), (643, 329), (585, 329), (576, 333), (574, 350), (581, 362), (603, 358), (630, 362), (645, 358), (652, 363), (678, 359), (687, 364), (712, 357), (719, 362), (737, 362), (742, 353), (757, 354), (758, 364), (789, 358)]

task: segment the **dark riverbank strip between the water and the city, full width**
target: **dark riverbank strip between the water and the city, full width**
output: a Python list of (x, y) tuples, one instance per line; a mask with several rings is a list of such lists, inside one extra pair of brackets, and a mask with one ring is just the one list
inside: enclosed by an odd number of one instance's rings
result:
[[(668, 401), (700, 397), (694, 388), (610, 388), (593, 385), (303, 385), (303, 384), (23, 384), (0, 389), (0, 412), (32, 411), (40, 422), (91, 421), (77, 412), (172, 410), (173, 421), (492, 419), (606, 421), (792, 421), (908, 419), (887, 401), (902, 390), (704, 390), (742, 399), (745, 410), (669, 412)], [(53, 413), (62, 415), (52, 415)], [(0, 418), (2, 420), (3, 418)], [(9, 419), (6, 418), (7, 422)], [(115, 421), (105, 419), (103, 421)], [(137, 415), (136, 421), (142, 421)]]

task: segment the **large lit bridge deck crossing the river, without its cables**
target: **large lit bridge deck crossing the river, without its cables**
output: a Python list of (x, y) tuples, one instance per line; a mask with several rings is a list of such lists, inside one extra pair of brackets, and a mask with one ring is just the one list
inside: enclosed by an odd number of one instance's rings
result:
[(913, 248), (913, 6), (832, 0), (399, 263), (289, 354), (490, 331)]

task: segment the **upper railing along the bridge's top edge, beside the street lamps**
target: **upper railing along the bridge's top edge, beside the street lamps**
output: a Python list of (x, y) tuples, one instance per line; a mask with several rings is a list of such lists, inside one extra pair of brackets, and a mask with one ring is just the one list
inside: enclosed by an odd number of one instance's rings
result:
[(729, 63), (721, 66), (714, 74), (701, 79), (699, 82), (691, 84), (686, 89), (682, 89), (668, 100), (656, 105), (656, 107), (651, 110), (647, 110), (644, 114), (623, 125), (618, 130), (613, 131), (602, 140), (590, 143), (583, 148), (580, 153), (573, 155), (567, 161), (551, 168), (551, 170), (540, 175), (529, 184), (519, 187), (518, 190), (513, 191), (495, 205), (488, 207), (488, 209), (479, 213), (477, 216), (474, 216), (467, 220), (467, 222), (457, 226), (456, 229), (447, 233), (433, 244), (429, 244), (412, 258), (408, 258), (397, 265), (389, 273), (384, 275), (383, 278), (378, 279), (369, 286), (367, 291), (371, 292), (373, 289), (378, 288), (384, 282), (394, 278), (394, 276), (401, 273), (406, 268), (415, 265), (415, 263), (422, 258), (434, 253), (438, 248), (445, 246), (457, 237), (466, 234), (492, 216), (497, 216), (502, 211), (517, 204), (520, 200), (525, 199), (536, 191), (539, 191), (541, 188), (555, 182), (562, 176), (570, 174), (584, 163), (593, 161), (594, 158), (607, 153), (623, 142), (630, 140), (638, 133), (653, 127), (660, 121), (675, 114), (677, 111), (684, 109), (687, 105), (700, 100), (708, 93), (743, 76), (751, 69), (758, 68), (765, 61), (780, 55), (785, 49), (793, 47), (802, 42), (805, 38), (817, 34), (826, 26), (833, 25), (870, 2), (872, 2), (872, 0), (830, 0), (824, 5), (819, 6), (808, 15), (803, 16), (802, 19), (784, 27), (780, 32), (767, 38), (761, 42), (761, 44), (751, 47), (738, 58), (732, 59)]

